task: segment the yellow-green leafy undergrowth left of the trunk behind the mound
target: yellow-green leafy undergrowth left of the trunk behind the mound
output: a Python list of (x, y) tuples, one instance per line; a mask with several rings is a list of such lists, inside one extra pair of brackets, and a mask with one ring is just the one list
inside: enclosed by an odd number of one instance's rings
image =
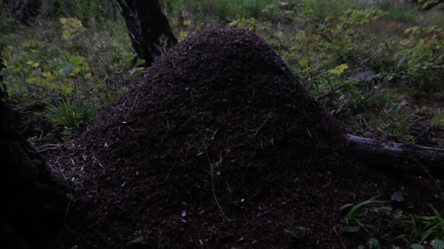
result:
[[(140, 74), (130, 71), (135, 56), (127, 32), (122, 20), (85, 28), (76, 17), (61, 17), (2, 35), (10, 101), (22, 107), (49, 104), (48, 115), (33, 115), (70, 128), (90, 121)], [(60, 97), (63, 101), (53, 105)], [(80, 103), (87, 103), (87, 112)]]

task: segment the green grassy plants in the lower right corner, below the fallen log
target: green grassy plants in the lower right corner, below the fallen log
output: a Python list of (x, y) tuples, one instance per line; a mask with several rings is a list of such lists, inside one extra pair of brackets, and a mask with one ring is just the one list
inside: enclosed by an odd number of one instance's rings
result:
[[(440, 212), (430, 207), (434, 216), (404, 214), (402, 209), (393, 209), (390, 202), (374, 198), (357, 205), (346, 204), (340, 208), (341, 212), (348, 210), (343, 217), (343, 232), (364, 230), (370, 236), (393, 245), (406, 244), (413, 249), (422, 248), (421, 245), (425, 241), (441, 248), (444, 239), (444, 219)], [(376, 239), (370, 240), (373, 241), (373, 246), (379, 244)]]

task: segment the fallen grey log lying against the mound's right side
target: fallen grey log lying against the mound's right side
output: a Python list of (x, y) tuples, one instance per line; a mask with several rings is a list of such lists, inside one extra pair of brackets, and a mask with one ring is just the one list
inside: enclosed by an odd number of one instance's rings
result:
[(367, 166), (393, 173), (444, 177), (444, 149), (346, 135), (352, 155)]

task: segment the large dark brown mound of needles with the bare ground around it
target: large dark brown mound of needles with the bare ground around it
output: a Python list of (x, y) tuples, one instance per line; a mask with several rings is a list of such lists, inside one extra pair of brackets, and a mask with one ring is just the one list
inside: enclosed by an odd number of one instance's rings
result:
[(430, 180), (352, 159), (343, 130), (257, 35), (198, 33), (51, 155), (80, 186), (65, 238), (78, 248), (356, 248), (365, 241), (341, 232), (341, 205), (403, 190), (411, 212), (443, 209)]

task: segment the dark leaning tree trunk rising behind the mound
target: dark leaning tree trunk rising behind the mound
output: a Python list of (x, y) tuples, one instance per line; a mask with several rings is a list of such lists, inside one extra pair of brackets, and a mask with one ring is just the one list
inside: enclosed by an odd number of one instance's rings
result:
[(117, 6), (128, 27), (133, 49), (146, 61), (146, 66), (178, 42), (159, 1), (117, 0)]

